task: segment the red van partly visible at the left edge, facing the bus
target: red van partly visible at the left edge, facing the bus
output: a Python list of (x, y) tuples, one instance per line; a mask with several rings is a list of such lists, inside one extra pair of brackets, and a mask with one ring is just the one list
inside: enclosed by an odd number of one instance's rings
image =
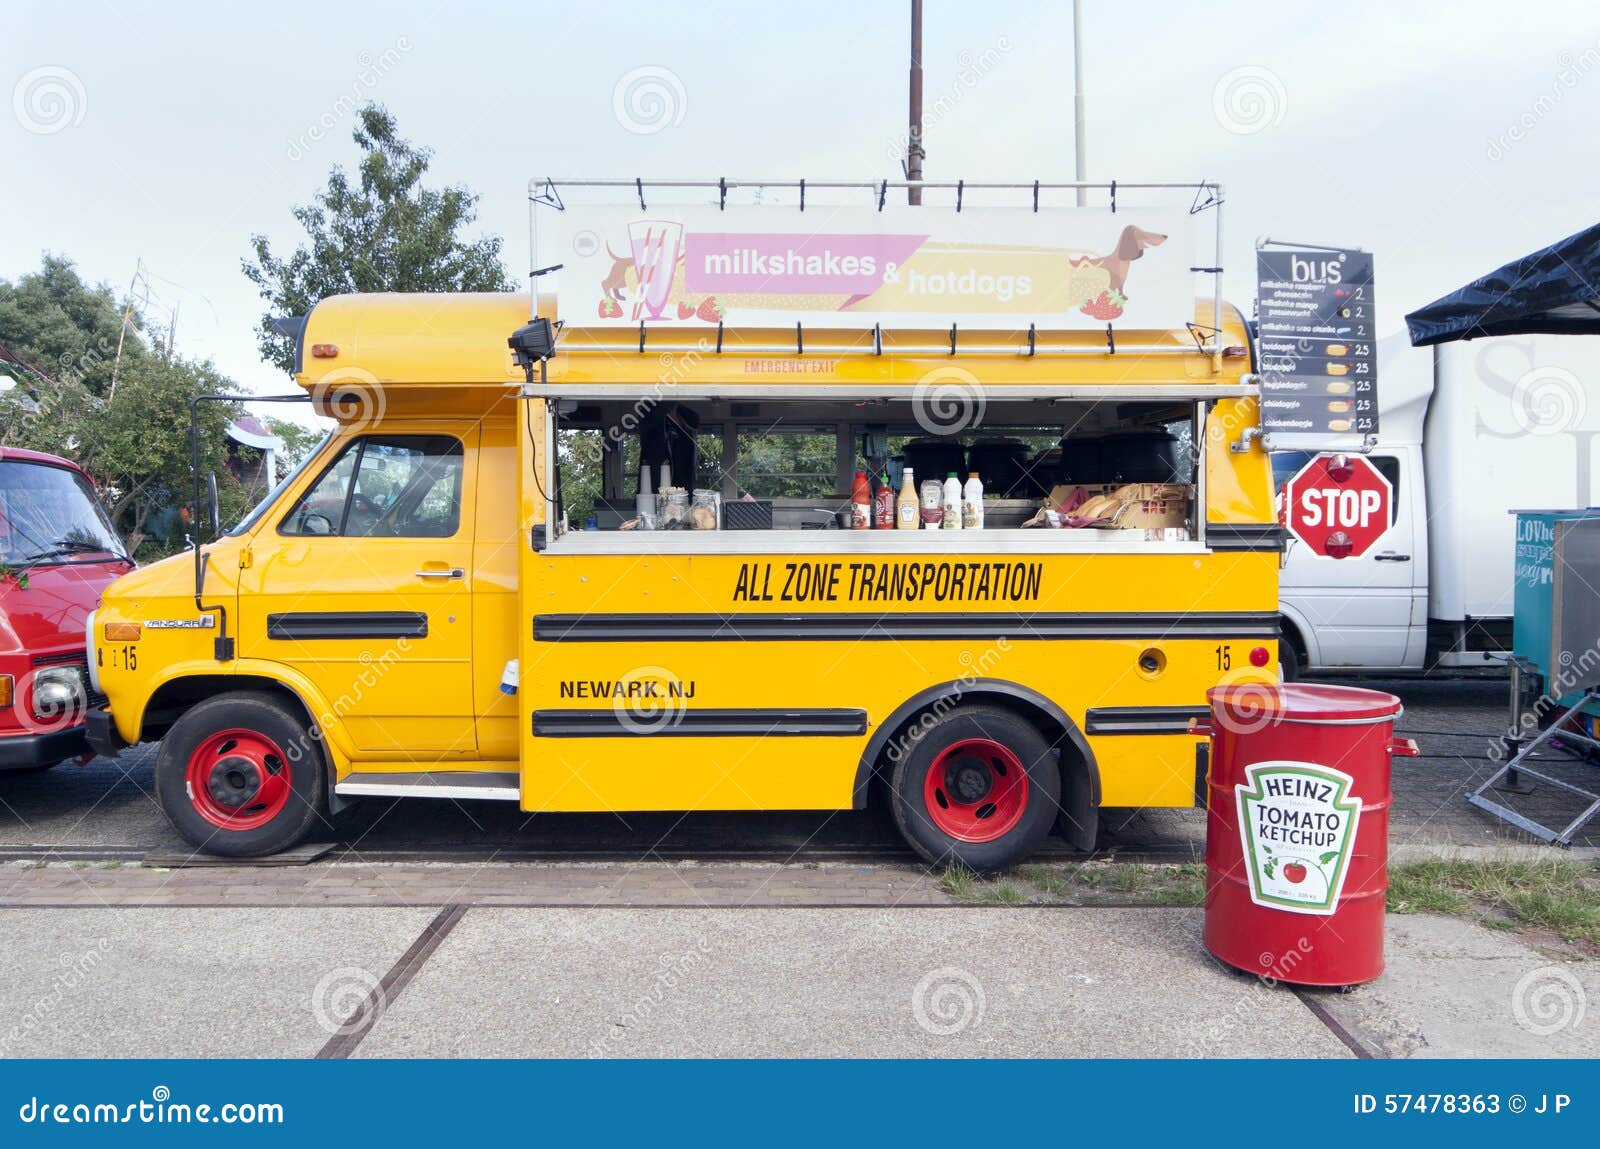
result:
[(0, 448), (0, 771), (88, 752), (83, 627), (101, 591), (130, 570), (78, 467)]

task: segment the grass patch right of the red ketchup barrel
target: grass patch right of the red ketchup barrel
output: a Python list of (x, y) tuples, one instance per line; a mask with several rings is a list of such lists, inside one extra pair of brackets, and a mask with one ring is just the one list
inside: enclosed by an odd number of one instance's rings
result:
[(1549, 930), (1600, 946), (1600, 866), (1568, 858), (1403, 863), (1389, 869), (1389, 909), (1477, 917), (1491, 928)]

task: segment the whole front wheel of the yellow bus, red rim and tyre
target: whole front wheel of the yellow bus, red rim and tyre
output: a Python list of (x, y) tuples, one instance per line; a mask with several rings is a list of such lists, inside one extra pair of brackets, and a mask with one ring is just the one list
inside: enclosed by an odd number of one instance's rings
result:
[(326, 823), (322, 744), (270, 695), (218, 695), (166, 731), (155, 755), (155, 797), (205, 853), (277, 853)]

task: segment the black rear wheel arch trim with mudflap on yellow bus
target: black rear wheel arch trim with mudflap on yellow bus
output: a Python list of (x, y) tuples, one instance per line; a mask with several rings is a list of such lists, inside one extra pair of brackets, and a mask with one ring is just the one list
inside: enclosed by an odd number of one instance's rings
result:
[(878, 723), (861, 752), (856, 765), (856, 781), (851, 805), (867, 807), (867, 792), (878, 763), (886, 757), (893, 739), (906, 730), (917, 715), (947, 703), (950, 709), (970, 703), (998, 706), (1034, 723), (1053, 747), (1061, 749), (1061, 829), (1067, 840), (1080, 850), (1093, 850), (1098, 832), (1101, 799), (1099, 763), (1094, 751), (1078, 728), (1078, 723), (1054, 701), (1006, 679), (960, 679), (928, 687), (901, 703), (888, 719)]

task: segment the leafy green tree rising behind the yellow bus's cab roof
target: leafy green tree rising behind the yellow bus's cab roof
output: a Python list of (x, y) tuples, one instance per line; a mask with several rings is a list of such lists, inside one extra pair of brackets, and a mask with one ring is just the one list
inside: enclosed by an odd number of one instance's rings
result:
[(294, 371), (294, 341), (272, 326), (304, 315), (317, 301), (349, 291), (507, 291), (501, 238), (462, 238), (477, 219), (477, 194), (462, 186), (424, 187), (432, 152), (402, 139), (395, 118), (368, 104), (357, 118), (362, 149), (355, 179), (334, 166), (315, 202), (294, 208), (309, 245), (288, 259), (251, 235), (254, 259), (245, 275), (267, 301), (256, 342), (261, 357)]

